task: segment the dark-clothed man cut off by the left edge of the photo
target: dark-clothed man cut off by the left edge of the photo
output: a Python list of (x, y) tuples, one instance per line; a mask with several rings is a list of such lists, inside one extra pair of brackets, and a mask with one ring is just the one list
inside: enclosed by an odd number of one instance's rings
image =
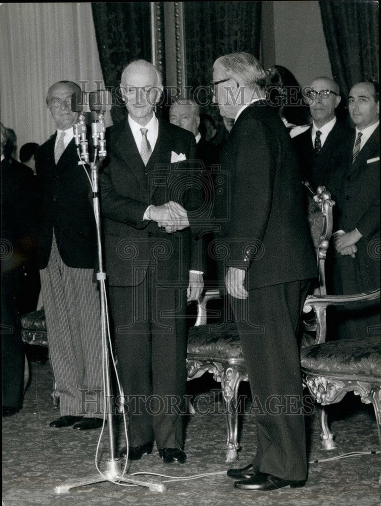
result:
[[(32, 175), (15, 167), (4, 156), (7, 130), (1, 130), (1, 238), (2, 238), (2, 405), (3, 416), (22, 407), (24, 391), (24, 346), (21, 316), (25, 312), (23, 293), (26, 266), (34, 258), (36, 197)], [(8, 143), (9, 146), (9, 143)], [(26, 168), (26, 167), (25, 167)], [(35, 309), (35, 308), (34, 308)], [(30, 310), (30, 309), (29, 309)]]

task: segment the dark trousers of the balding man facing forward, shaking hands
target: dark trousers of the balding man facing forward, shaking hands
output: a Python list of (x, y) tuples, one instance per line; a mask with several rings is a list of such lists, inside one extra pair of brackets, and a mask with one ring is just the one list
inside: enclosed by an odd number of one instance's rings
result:
[(110, 286), (110, 302), (130, 445), (183, 448), (186, 290), (156, 285), (149, 269), (138, 286)]

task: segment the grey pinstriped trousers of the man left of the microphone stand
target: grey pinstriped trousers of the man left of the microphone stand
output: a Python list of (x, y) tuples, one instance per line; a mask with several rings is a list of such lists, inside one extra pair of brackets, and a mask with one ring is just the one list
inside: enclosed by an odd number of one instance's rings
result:
[(49, 262), (40, 277), (61, 416), (100, 416), (102, 330), (93, 269), (65, 265), (53, 233)]

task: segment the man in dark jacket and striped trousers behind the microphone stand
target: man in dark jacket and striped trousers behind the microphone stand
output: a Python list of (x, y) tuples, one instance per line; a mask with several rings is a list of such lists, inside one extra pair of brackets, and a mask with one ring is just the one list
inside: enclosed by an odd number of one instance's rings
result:
[[(71, 81), (48, 90), (57, 132), (36, 152), (41, 188), (38, 263), (49, 338), (49, 355), (60, 395), (61, 417), (51, 427), (95, 429), (102, 425), (102, 332), (93, 270), (97, 234), (86, 170), (78, 164)], [(98, 392), (98, 394), (97, 394)]]

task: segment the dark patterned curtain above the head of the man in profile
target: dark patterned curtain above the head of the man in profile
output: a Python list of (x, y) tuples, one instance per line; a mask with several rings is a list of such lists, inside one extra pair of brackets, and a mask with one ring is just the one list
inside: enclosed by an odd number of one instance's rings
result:
[[(262, 2), (184, 2), (188, 86), (206, 86), (222, 55), (246, 52), (259, 58), (261, 7)], [(225, 131), (217, 107), (202, 109)]]

